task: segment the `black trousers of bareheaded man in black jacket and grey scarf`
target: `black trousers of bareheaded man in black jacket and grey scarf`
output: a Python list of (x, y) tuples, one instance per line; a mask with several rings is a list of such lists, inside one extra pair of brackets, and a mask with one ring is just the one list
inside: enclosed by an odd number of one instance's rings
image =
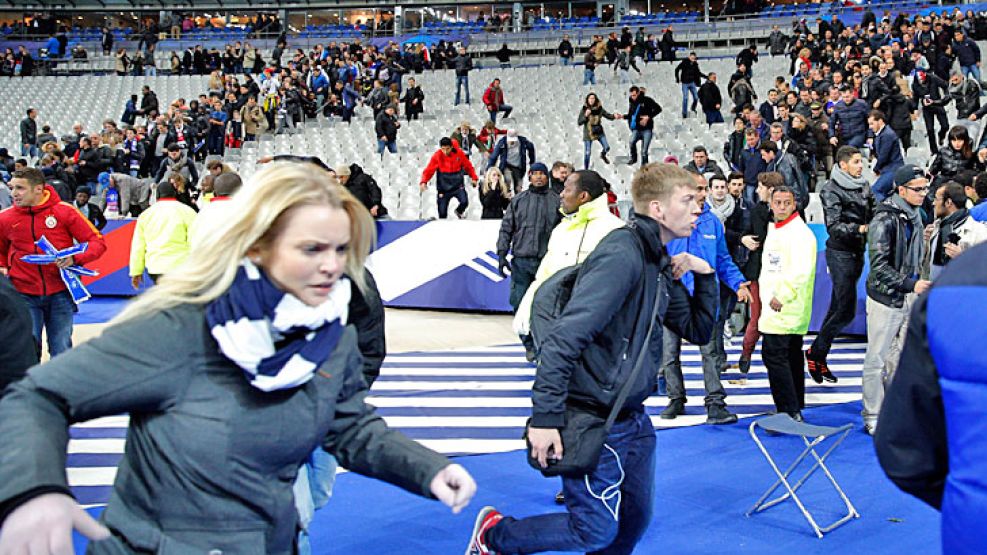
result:
[(833, 339), (857, 314), (857, 281), (864, 271), (864, 253), (826, 249), (826, 267), (833, 280), (833, 295), (819, 335), (812, 342), (812, 356), (816, 359), (829, 355)]

